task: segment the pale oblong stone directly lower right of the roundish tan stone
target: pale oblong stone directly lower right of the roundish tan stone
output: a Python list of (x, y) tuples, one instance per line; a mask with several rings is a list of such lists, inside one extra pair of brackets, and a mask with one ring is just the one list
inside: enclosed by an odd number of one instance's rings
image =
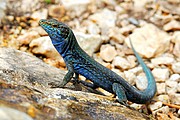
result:
[(131, 68), (131, 64), (129, 61), (123, 57), (116, 56), (113, 60), (113, 65), (117, 68), (121, 68), (123, 70)]

